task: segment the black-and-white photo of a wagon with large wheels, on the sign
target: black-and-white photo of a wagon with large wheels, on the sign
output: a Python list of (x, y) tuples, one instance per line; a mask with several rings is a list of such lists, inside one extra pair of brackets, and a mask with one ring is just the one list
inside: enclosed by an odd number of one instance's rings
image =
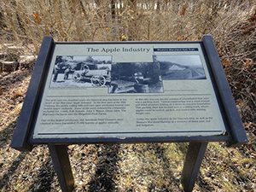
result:
[(50, 88), (107, 87), (111, 56), (57, 55)]

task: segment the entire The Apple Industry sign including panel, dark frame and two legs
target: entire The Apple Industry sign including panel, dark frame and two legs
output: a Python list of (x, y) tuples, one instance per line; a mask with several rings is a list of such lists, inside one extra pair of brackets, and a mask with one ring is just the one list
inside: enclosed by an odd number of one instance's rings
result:
[(12, 148), (48, 144), (71, 191), (67, 145), (188, 142), (185, 191), (208, 142), (247, 143), (211, 36), (198, 42), (60, 43), (44, 37)]

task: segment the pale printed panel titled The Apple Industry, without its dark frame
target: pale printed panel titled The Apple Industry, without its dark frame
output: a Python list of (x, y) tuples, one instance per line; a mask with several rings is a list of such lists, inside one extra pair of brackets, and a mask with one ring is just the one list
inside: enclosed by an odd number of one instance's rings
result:
[(224, 135), (201, 46), (56, 43), (32, 139)]

